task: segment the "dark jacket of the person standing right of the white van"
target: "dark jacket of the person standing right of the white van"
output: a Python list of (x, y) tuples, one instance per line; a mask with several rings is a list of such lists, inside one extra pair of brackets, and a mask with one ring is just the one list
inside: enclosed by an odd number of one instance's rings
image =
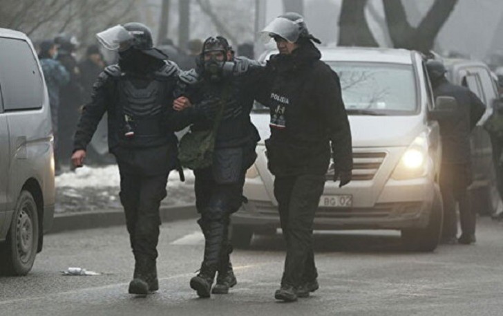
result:
[(435, 85), (433, 93), (435, 97), (454, 97), (457, 101), (453, 115), (439, 121), (442, 162), (471, 164), (470, 132), (484, 114), (484, 103), (469, 89), (445, 79)]

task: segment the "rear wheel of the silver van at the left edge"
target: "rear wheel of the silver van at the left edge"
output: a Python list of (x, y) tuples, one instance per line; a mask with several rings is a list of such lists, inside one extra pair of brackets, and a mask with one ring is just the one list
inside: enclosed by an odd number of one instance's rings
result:
[(30, 272), (39, 243), (39, 216), (32, 194), (19, 196), (7, 239), (0, 250), (1, 275), (27, 275)]

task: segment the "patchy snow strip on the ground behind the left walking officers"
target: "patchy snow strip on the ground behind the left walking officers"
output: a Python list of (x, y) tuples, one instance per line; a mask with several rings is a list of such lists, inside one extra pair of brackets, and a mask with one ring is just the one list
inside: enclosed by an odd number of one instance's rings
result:
[[(185, 182), (181, 182), (178, 171), (171, 171), (167, 185), (167, 198), (163, 207), (193, 205), (194, 176), (185, 170)], [(56, 177), (56, 213), (102, 212), (122, 209), (120, 205), (120, 176), (117, 165), (78, 168)]]

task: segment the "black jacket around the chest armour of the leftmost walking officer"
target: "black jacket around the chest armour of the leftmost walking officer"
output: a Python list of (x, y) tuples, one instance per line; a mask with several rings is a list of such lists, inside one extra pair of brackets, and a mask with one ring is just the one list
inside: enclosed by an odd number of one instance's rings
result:
[(151, 80), (162, 82), (163, 89), (160, 92), (166, 97), (165, 101), (163, 98), (162, 106), (165, 108), (160, 120), (166, 131), (161, 132), (164, 135), (162, 139), (142, 141), (135, 136), (131, 145), (124, 137), (124, 115), (121, 115), (120, 110), (120, 106), (124, 104), (120, 104), (123, 101), (121, 101), (121, 94), (117, 91), (117, 78), (124, 75), (129, 74), (124, 73), (119, 66), (115, 65), (107, 67), (97, 78), (93, 86), (91, 102), (84, 106), (77, 125), (74, 151), (86, 149), (93, 138), (97, 124), (106, 112), (108, 113), (108, 148), (117, 158), (119, 165), (125, 166), (124, 170), (129, 169), (135, 174), (164, 174), (175, 168), (178, 151), (173, 132), (183, 127), (180, 113), (172, 108), (174, 88), (178, 80), (178, 66), (171, 62), (162, 62), (155, 71), (144, 74), (150, 76)]

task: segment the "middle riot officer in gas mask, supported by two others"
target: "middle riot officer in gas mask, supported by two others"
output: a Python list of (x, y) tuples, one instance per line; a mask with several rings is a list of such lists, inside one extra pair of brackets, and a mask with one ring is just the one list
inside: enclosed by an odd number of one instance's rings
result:
[[(243, 203), (245, 173), (256, 158), (259, 136), (249, 113), (254, 82), (260, 78), (262, 68), (249, 59), (234, 59), (224, 37), (209, 37), (202, 46), (197, 68), (180, 75), (182, 96), (173, 107), (191, 113), (191, 131), (211, 129), (219, 121), (211, 166), (194, 170), (205, 253), (200, 272), (191, 279), (190, 286), (200, 297), (225, 294), (236, 285), (229, 259), (229, 216)], [(216, 285), (211, 289), (216, 272)]]

